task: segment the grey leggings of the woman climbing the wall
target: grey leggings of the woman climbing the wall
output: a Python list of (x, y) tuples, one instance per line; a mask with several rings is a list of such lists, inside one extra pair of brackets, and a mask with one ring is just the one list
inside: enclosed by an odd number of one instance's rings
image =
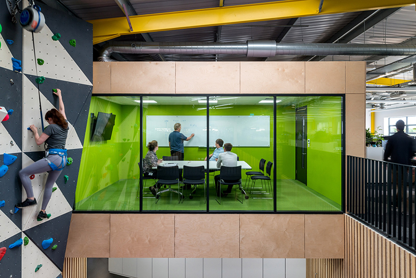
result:
[[(48, 159), (55, 165), (60, 165), (62, 161), (62, 157), (57, 154), (49, 155)], [(26, 190), (27, 198), (34, 197), (32, 182), (29, 177), (33, 174), (40, 174), (44, 172), (48, 172), (49, 175), (45, 183), (45, 192), (43, 193), (42, 209), (46, 209), (46, 206), (48, 205), (49, 199), (52, 195), (53, 183), (57, 180), (62, 171), (52, 171), (48, 164), (48, 161), (46, 161), (45, 158), (42, 158), (36, 161), (35, 163), (32, 163), (31, 165), (27, 166), (26, 168), (20, 170), (19, 172), (20, 180), (22, 181), (24, 190)]]

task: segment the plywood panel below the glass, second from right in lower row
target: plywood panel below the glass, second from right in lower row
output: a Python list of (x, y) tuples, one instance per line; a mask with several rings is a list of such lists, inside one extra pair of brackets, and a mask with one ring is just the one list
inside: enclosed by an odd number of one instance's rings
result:
[(305, 258), (305, 215), (241, 214), (241, 258)]

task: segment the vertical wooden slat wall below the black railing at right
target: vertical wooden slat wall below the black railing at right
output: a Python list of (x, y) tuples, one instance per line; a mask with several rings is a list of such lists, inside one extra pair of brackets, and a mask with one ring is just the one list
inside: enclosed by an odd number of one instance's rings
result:
[(344, 227), (345, 277), (416, 278), (413, 254), (348, 215)]

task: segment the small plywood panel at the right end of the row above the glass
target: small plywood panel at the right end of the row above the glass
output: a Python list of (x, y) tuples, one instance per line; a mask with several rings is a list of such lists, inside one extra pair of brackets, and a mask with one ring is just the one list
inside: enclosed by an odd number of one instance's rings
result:
[(345, 93), (366, 93), (366, 62), (345, 62)]

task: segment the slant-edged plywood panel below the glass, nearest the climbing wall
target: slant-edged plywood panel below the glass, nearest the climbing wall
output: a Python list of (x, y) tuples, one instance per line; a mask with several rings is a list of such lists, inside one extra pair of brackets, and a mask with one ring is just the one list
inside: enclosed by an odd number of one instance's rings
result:
[(110, 214), (72, 214), (65, 257), (109, 256)]

